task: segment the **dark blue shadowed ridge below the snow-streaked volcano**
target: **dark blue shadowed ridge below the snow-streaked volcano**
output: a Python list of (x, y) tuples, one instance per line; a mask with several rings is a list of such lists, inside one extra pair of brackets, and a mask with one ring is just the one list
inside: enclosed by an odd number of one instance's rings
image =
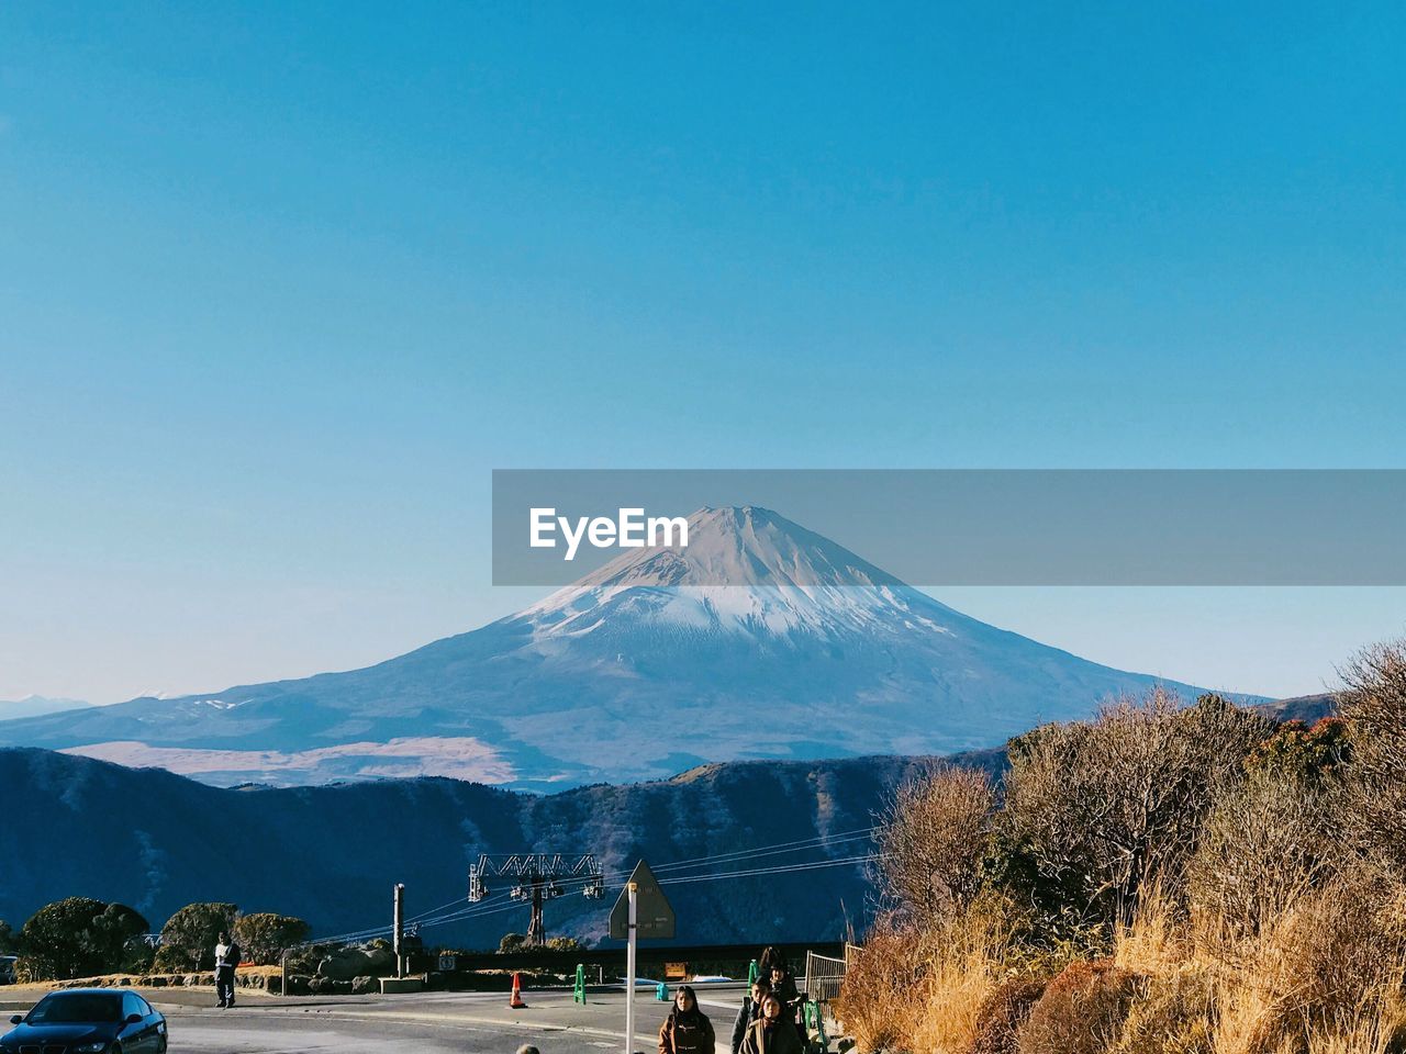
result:
[[(1001, 755), (965, 763), (994, 772)], [(319, 935), (344, 933), (385, 925), (395, 883), (406, 884), (411, 916), (467, 906), (467, 868), (479, 853), (592, 852), (613, 876), (606, 899), (551, 901), (550, 933), (603, 937), (623, 873), (645, 857), (661, 878), (695, 878), (669, 887), (683, 943), (837, 939), (846, 912), (858, 925), (869, 906), (860, 866), (718, 876), (865, 854), (862, 832), (914, 765), (751, 762), (538, 795), (446, 779), (226, 790), (155, 769), (0, 749), (6, 815), (24, 818), (0, 824), (0, 919), (18, 929), (44, 904), (83, 895), (134, 905), (159, 926), (188, 902), (232, 901), (298, 915)], [(818, 838), (834, 840), (742, 856)], [(725, 859), (699, 861), (718, 854)], [(695, 863), (671, 866), (681, 860)], [(711, 877), (697, 881), (703, 876)], [(527, 926), (526, 908), (502, 885), (478, 911), (427, 929), (426, 940), (496, 947), (505, 932)]]

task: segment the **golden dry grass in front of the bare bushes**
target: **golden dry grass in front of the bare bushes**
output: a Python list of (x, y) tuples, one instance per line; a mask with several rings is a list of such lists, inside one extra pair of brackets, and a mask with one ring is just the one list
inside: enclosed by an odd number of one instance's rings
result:
[(1012, 985), (1011, 963), (1021, 958), (1012, 930), (980, 904), (942, 939), (876, 935), (839, 1009), (860, 1051), (1406, 1051), (1406, 894), (1378, 871), (1347, 870), (1305, 892), (1230, 954), (1223, 942), (1195, 940), (1206, 920), (1194, 926), (1174, 897), (1144, 895), (1114, 956), (1064, 970), (1028, 1022), (1039, 985)]

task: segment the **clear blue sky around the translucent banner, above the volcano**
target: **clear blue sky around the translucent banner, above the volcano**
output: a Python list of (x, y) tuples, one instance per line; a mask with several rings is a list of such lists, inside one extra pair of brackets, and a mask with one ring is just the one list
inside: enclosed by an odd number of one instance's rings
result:
[[(1406, 467), (1403, 53), (1388, 3), (4, 4), (0, 698), (503, 614), (495, 467)], [(1406, 631), (942, 597), (1258, 691)]]

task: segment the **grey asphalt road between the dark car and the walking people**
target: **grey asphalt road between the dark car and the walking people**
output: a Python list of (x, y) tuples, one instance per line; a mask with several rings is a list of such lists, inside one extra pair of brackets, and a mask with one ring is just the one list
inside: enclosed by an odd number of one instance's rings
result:
[[(725, 1036), (742, 985), (700, 987), (703, 1012)], [(3, 989), (0, 989), (3, 992)], [(20, 995), (14, 992), (14, 995)], [(246, 996), (231, 1010), (211, 1006), (204, 989), (143, 991), (166, 1015), (170, 1054), (513, 1054), (531, 1043), (543, 1054), (623, 1050), (624, 992), (592, 992), (588, 1003), (572, 1002), (569, 991), (526, 992), (527, 1009), (512, 1010), (496, 992), (433, 992), (399, 996), (339, 999), (271, 999)], [(22, 1001), (6, 998), (7, 1008)], [(6, 1013), (14, 1012), (7, 1009)], [(668, 1003), (652, 989), (636, 996), (636, 1050), (652, 1051)]]

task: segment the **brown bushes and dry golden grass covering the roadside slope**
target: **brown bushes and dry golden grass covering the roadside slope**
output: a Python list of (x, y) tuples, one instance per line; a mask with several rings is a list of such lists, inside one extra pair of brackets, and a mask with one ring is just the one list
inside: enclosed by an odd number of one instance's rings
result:
[(884, 816), (860, 1051), (1406, 1051), (1406, 642), (1339, 718), (1154, 691), (932, 767)]

